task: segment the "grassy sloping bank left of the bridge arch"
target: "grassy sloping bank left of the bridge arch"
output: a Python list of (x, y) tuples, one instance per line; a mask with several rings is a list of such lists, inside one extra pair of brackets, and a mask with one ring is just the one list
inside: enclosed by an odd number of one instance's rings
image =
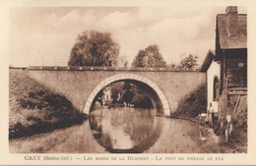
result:
[(9, 138), (68, 127), (84, 119), (64, 96), (30, 79), (27, 70), (9, 70)]

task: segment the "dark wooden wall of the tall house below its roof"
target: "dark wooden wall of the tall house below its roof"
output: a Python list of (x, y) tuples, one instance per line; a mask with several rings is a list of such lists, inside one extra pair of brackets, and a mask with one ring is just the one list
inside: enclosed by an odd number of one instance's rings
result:
[(247, 51), (246, 49), (225, 50), (222, 56), (224, 59), (221, 62), (221, 74), (223, 75), (221, 83), (223, 84), (219, 107), (222, 108), (221, 119), (225, 120), (227, 114), (234, 115), (237, 110), (245, 112), (244, 108), (239, 107), (240, 104), (246, 105), (247, 103)]

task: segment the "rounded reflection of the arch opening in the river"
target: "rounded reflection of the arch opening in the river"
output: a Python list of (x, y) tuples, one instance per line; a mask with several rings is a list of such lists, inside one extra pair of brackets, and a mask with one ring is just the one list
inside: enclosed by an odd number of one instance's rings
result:
[(97, 107), (90, 127), (97, 142), (109, 152), (142, 152), (160, 137), (155, 111), (127, 107)]

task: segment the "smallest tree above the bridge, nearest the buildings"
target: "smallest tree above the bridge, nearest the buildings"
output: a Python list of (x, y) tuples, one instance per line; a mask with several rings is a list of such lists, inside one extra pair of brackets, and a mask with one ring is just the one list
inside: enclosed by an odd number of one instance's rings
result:
[(189, 54), (187, 57), (183, 58), (179, 65), (178, 68), (181, 69), (196, 69), (198, 66), (197, 64), (198, 56), (195, 55), (193, 56), (192, 54)]

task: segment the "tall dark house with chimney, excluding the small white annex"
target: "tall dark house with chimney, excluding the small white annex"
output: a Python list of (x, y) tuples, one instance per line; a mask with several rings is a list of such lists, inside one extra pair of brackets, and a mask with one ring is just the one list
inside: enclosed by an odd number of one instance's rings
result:
[(235, 119), (241, 107), (247, 111), (247, 15), (238, 14), (236, 6), (217, 15), (215, 61), (220, 62), (221, 118)]

